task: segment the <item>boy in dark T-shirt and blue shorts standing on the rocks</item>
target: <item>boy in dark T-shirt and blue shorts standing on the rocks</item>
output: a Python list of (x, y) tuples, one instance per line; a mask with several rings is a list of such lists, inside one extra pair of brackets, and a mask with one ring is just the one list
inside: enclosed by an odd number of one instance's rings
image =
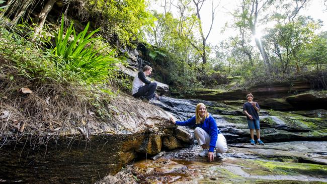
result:
[(260, 121), (259, 121), (259, 114), (258, 114), (258, 112), (260, 111), (260, 107), (258, 103), (253, 102), (252, 94), (248, 94), (247, 99), (248, 102), (243, 105), (243, 111), (247, 115), (248, 128), (250, 129), (250, 135), (251, 135), (250, 143), (251, 145), (256, 145), (253, 135), (254, 134), (253, 130), (256, 129), (257, 138), (258, 138), (257, 143), (260, 145), (265, 145), (264, 142), (260, 140)]

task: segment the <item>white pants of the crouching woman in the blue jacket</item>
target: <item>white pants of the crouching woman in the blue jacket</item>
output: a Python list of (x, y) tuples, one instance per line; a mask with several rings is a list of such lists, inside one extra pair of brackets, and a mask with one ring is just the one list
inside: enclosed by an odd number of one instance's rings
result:
[[(210, 135), (204, 131), (202, 128), (197, 127), (194, 130), (194, 135), (196, 140), (198, 140), (199, 145), (205, 144), (207, 149), (210, 147)], [(218, 134), (216, 141), (216, 151), (218, 153), (225, 153), (227, 151), (227, 142), (222, 134)]]

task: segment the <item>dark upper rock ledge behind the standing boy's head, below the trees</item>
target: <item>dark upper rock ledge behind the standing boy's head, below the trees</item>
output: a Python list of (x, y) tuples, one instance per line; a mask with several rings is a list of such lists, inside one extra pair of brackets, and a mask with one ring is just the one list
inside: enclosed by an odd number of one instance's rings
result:
[[(247, 90), (223, 91), (221, 89), (202, 88), (196, 90), (195, 96), (189, 96), (188, 98), (237, 105), (240, 104), (240, 99), (246, 101), (246, 95), (252, 93), (254, 101), (267, 109), (278, 111), (326, 109), (326, 91), (305, 92), (312, 88), (314, 87), (308, 81), (296, 80), (292, 84), (281, 82), (263, 83)], [(298, 93), (305, 94), (294, 95)]]

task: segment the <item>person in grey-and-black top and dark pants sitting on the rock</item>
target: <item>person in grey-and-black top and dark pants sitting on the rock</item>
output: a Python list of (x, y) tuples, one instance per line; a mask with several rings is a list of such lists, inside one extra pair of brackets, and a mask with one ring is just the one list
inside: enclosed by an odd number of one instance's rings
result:
[(132, 96), (134, 98), (144, 97), (143, 102), (147, 102), (154, 97), (158, 98), (158, 95), (154, 93), (157, 84), (146, 79), (146, 76), (150, 75), (151, 72), (152, 68), (146, 65), (143, 71), (138, 72), (137, 76), (135, 76), (132, 86)]

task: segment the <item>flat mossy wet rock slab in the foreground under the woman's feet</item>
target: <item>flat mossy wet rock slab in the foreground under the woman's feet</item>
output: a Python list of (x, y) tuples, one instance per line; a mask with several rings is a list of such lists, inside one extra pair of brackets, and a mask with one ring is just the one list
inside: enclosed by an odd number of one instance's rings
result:
[[(199, 157), (199, 146), (167, 152), (128, 167), (136, 183), (327, 182), (327, 142), (293, 141), (265, 146), (230, 144), (222, 160)], [(121, 172), (124, 172), (122, 170)]]

